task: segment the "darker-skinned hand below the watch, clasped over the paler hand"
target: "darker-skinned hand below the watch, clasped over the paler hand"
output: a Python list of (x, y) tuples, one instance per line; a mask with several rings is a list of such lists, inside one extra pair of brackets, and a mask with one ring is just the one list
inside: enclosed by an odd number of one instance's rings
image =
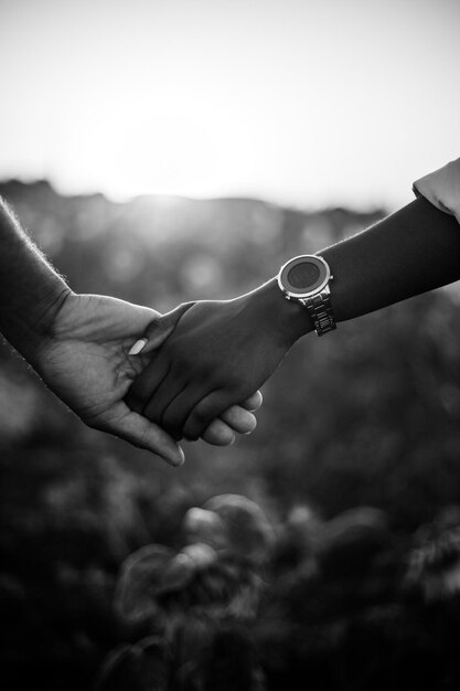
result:
[[(196, 439), (212, 419), (261, 386), (300, 336), (284, 302), (267, 284), (234, 300), (190, 306), (129, 390), (129, 406), (176, 437)], [(146, 338), (142, 352), (151, 346), (149, 331)]]

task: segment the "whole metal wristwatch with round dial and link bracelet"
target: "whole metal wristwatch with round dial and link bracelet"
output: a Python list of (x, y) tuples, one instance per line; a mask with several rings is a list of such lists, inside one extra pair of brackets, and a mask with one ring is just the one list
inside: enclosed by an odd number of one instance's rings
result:
[(336, 328), (329, 288), (332, 279), (328, 262), (312, 254), (293, 257), (279, 269), (278, 285), (285, 297), (308, 309), (318, 336)]

